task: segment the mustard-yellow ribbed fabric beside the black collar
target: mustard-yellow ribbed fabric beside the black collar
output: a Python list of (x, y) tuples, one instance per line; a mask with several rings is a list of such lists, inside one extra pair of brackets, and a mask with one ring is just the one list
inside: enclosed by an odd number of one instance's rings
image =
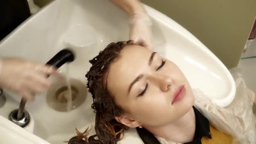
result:
[(202, 144), (232, 144), (232, 136), (220, 132), (210, 123), (211, 138), (202, 137)]

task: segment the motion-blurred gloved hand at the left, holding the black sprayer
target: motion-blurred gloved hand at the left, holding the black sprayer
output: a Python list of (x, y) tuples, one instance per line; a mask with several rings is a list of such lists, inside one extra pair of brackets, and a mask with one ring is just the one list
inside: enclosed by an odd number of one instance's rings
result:
[[(0, 87), (24, 96), (28, 101), (51, 85), (47, 75), (57, 74), (55, 68), (20, 58), (0, 59)], [(60, 76), (60, 75), (58, 75)]]

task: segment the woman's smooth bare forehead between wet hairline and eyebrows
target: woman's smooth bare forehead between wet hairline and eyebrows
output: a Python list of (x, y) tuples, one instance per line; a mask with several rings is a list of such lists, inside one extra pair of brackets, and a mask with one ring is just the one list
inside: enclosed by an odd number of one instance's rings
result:
[(128, 92), (131, 82), (142, 73), (143, 67), (148, 67), (152, 51), (139, 45), (128, 45), (123, 48), (120, 58), (109, 67), (107, 85), (115, 95), (117, 90)]

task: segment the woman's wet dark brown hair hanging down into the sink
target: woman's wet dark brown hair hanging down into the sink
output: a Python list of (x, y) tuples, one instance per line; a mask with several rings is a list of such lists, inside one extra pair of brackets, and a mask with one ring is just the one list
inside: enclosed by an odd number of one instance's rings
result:
[(88, 129), (84, 133), (80, 133), (76, 129), (77, 136), (71, 138), (68, 144), (117, 144), (117, 141), (122, 139), (124, 130), (128, 129), (115, 120), (115, 116), (123, 115), (124, 111), (115, 104), (114, 97), (107, 90), (109, 65), (119, 58), (120, 51), (126, 45), (134, 45), (134, 43), (132, 40), (110, 43), (103, 51), (99, 52), (98, 56), (89, 61), (92, 66), (85, 77), (88, 80), (88, 91), (93, 97), (91, 107), (96, 113), (96, 134), (88, 138)]

